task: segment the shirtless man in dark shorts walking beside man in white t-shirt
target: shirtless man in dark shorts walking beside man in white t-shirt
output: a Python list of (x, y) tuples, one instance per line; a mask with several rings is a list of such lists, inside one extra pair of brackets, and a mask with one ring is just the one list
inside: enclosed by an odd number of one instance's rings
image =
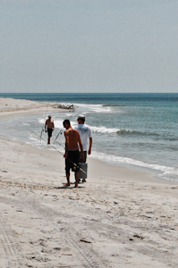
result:
[[(70, 186), (70, 170), (75, 172), (75, 188), (78, 187), (79, 182), (79, 146), (81, 148), (81, 156), (83, 155), (83, 147), (81, 144), (80, 134), (77, 130), (72, 129), (71, 122), (69, 120), (64, 120), (64, 137), (65, 137), (65, 172), (67, 183), (64, 186)], [(73, 164), (74, 163), (74, 164)]]

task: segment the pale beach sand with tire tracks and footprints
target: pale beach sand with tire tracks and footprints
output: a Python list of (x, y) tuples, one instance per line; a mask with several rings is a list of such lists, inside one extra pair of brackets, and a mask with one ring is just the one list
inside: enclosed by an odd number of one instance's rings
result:
[[(0, 104), (7, 117), (47, 109)], [(63, 155), (4, 137), (0, 147), (1, 268), (178, 267), (177, 184), (89, 158), (87, 183), (73, 188), (72, 173), (64, 188)]]

